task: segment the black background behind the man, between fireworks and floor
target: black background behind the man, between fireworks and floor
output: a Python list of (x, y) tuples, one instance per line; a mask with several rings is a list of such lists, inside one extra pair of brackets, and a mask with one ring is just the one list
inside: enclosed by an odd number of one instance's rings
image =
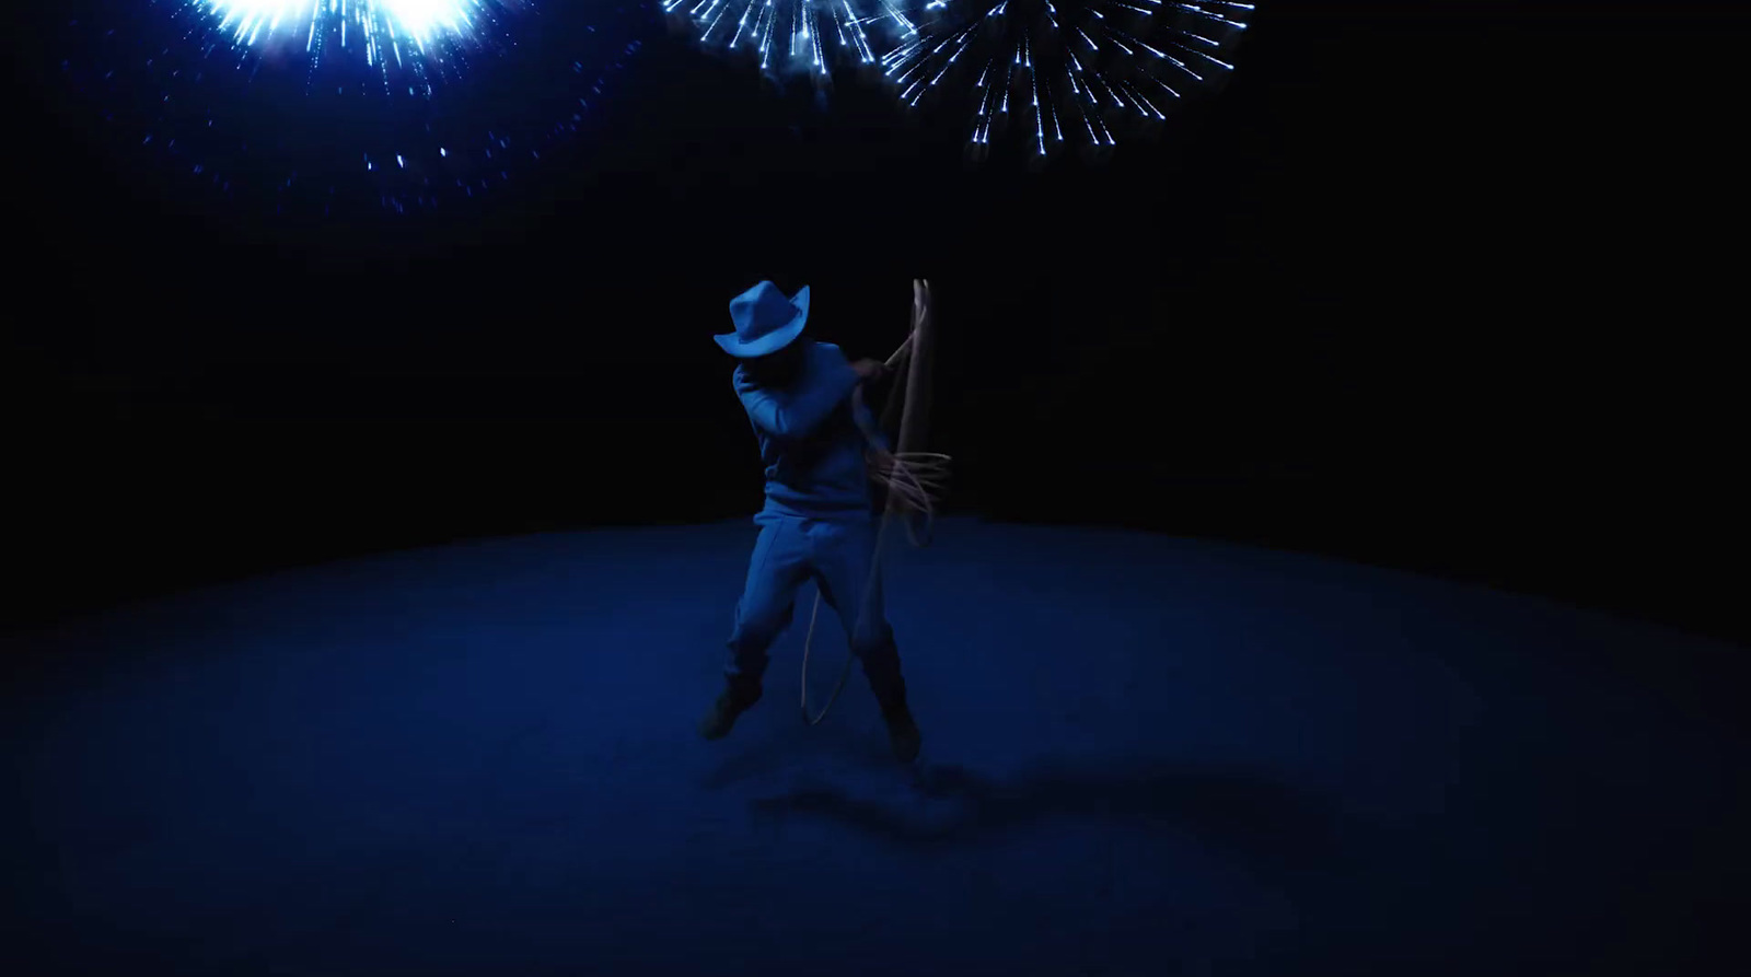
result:
[[(758, 504), (709, 336), (758, 278), (884, 355), (935, 282), (953, 510), (1334, 553), (1746, 639), (1746, 19), (1266, 4), (1156, 145), (1031, 173), (660, 30), (455, 215), (229, 212), (21, 51), (5, 615)], [(28, 32), (19, 32), (28, 40)], [(313, 137), (315, 138), (315, 133)]]

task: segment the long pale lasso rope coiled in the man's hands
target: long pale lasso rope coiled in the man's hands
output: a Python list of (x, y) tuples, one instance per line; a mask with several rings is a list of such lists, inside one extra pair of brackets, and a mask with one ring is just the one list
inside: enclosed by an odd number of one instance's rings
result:
[[(888, 408), (883, 413), (883, 429), (888, 427), (895, 406), (900, 410), (900, 450), (891, 452), (883, 457), (886, 467), (883, 471), (872, 471), (870, 478), (884, 480), (888, 487), (888, 504), (883, 508), (881, 524), (876, 529), (876, 548), (870, 553), (870, 571), (863, 583), (863, 602), (858, 606), (856, 625), (851, 634), (856, 636), (863, 625), (863, 615), (870, 609), (870, 601), (876, 595), (876, 585), (881, 581), (881, 555), (883, 543), (888, 538), (888, 525), (898, 513), (918, 515), (918, 524), (911, 518), (905, 524), (907, 538), (912, 546), (928, 546), (930, 532), (935, 522), (937, 501), (942, 497), (942, 488), (949, 476), (949, 455), (940, 452), (911, 452), (907, 450), (918, 438), (925, 422), (923, 408), (923, 385), (928, 383), (926, 371), (930, 368), (928, 341), (930, 341), (930, 284), (914, 282), (912, 284), (912, 333), (900, 343), (900, 348), (893, 350), (888, 357), (888, 368), (898, 369), (900, 362), (907, 362), (905, 376), (905, 394), (904, 397), (895, 397), (890, 394)], [(923, 347), (925, 352), (914, 355), (914, 350)], [(863, 387), (860, 385), (854, 397), (854, 415), (861, 413), (863, 406)], [(919, 529), (921, 525), (921, 529)], [(839, 669), (839, 681), (833, 683), (833, 692), (826, 697), (826, 704), (821, 706), (819, 713), (809, 711), (809, 653), (814, 648), (814, 625), (821, 616), (821, 590), (816, 585), (814, 590), (814, 611), (809, 615), (809, 637), (802, 644), (802, 718), (811, 727), (821, 725), (826, 713), (839, 700), (839, 693), (846, 688), (846, 679), (851, 678), (851, 664), (856, 660), (854, 651), (846, 653), (846, 664)]]

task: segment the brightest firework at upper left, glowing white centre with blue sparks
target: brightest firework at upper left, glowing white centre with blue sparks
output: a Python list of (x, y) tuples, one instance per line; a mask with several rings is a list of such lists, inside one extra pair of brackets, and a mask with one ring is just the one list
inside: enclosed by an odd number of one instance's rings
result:
[(480, 198), (571, 144), (637, 0), (75, 0), (61, 74), (103, 138), (240, 207)]

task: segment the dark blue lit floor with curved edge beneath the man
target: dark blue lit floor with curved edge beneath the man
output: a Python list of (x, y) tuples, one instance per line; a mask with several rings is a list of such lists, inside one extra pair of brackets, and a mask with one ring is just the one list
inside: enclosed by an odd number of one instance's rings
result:
[[(753, 525), (455, 545), (32, 639), (9, 973), (1681, 973), (1742, 651), (1168, 538), (897, 552), (868, 690), (693, 723)], [(805, 622), (805, 606), (798, 625)], [(16, 658), (23, 660), (23, 658)]]

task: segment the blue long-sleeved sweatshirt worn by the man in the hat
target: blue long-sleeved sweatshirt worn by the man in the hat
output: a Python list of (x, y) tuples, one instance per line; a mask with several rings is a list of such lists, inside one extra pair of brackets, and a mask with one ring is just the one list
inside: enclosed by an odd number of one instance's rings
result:
[[(735, 396), (748, 410), (765, 464), (765, 511), (797, 518), (867, 518), (872, 508), (863, 450), (888, 448), (868, 408), (854, 411), (858, 373), (832, 343), (809, 340), (797, 375), (762, 387), (735, 368)], [(868, 432), (868, 434), (865, 434)]]

